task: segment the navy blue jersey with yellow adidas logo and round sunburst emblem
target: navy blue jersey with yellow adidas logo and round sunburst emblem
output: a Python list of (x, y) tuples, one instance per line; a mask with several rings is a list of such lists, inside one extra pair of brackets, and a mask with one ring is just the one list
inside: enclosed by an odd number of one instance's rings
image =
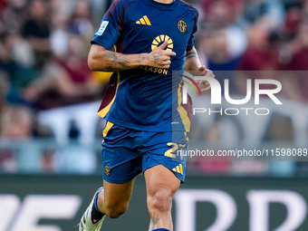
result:
[(101, 102), (99, 115), (134, 130), (189, 130), (189, 111), (181, 105), (181, 76), (186, 53), (194, 46), (197, 10), (175, 0), (160, 4), (153, 0), (117, 0), (104, 15), (91, 43), (118, 53), (150, 53), (168, 40), (169, 69), (149, 66), (114, 72)]

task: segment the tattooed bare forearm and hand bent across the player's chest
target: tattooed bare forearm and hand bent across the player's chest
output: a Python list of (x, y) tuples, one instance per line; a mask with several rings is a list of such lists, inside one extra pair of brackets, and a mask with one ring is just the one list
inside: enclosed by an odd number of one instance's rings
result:
[(88, 64), (91, 71), (119, 72), (138, 68), (140, 66), (151, 66), (168, 69), (170, 57), (176, 53), (165, 51), (168, 41), (162, 43), (151, 53), (124, 54), (111, 52), (99, 44), (92, 44), (88, 55)]

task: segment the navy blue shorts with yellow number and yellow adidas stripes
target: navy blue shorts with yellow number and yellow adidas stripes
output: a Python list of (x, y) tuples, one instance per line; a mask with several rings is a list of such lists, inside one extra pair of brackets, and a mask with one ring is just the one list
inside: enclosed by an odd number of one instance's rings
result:
[(186, 162), (178, 154), (188, 147), (187, 132), (131, 130), (108, 122), (103, 131), (102, 176), (111, 183), (126, 183), (157, 165), (170, 169), (184, 182)]

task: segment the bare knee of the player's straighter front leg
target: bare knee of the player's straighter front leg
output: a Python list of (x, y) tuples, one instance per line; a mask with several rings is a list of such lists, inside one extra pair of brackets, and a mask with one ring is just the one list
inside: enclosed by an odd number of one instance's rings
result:
[(174, 192), (170, 188), (158, 188), (149, 193), (147, 204), (149, 210), (155, 209), (161, 212), (169, 212), (172, 206)]

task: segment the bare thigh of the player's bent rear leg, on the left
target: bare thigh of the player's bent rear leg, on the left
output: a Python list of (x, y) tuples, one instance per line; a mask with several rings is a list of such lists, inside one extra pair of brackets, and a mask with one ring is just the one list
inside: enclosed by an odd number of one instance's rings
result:
[(104, 204), (107, 209), (123, 207), (126, 210), (130, 203), (135, 178), (126, 183), (111, 183), (103, 180)]

